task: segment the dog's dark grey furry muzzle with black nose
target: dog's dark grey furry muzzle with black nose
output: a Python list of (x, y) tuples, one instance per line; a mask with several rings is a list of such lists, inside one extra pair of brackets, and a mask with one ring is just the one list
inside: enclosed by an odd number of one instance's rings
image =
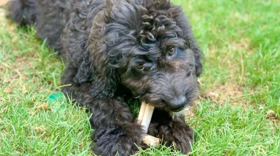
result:
[(199, 84), (193, 74), (159, 72), (148, 80), (143, 100), (157, 108), (179, 112), (191, 105)]

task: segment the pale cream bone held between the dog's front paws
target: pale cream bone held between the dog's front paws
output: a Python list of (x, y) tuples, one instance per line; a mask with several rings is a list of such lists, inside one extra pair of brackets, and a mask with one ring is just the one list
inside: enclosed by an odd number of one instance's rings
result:
[(143, 130), (145, 131), (145, 135), (142, 136), (142, 141), (150, 146), (156, 146), (161, 143), (159, 138), (153, 137), (151, 135), (148, 135), (148, 128), (152, 119), (154, 107), (146, 104), (145, 102), (142, 102), (139, 115), (138, 115), (138, 123), (143, 126)]

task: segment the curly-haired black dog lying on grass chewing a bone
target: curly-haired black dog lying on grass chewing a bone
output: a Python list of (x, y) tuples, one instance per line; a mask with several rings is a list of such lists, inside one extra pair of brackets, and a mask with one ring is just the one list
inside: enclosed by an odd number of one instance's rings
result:
[[(202, 52), (182, 8), (170, 0), (12, 0), (8, 17), (34, 25), (65, 58), (65, 95), (92, 113), (96, 154), (135, 154), (142, 128), (120, 97), (156, 107), (148, 132), (183, 154), (193, 129), (184, 122), (199, 91)], [(137, 146), (136, 146), (136, 145)]]

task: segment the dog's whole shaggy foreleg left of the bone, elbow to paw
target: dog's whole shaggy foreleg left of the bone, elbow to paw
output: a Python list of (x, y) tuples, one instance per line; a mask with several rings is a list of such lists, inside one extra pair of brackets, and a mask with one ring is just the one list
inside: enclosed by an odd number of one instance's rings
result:
[(71, 86), (65, 86), (62, 90), (75, 99), (74, 102), (86, 106), (92, 114), (90, 124), (94, 129), (94, 153), (104, 156), (114, 156), (117, 153), (120, 156), (128, 156), (135, 154), (138, 147), (145, 149), (141, 140), (142, 134), (145, 134), (142, 126), (133, 119), (128, 105), (110, 92), (114, 91), (114, 86), (110, 87), (109, 83), (104, 82), (108, 79), (99, 80), (98, 83), (77, 83), (74, 81), (76, 71), (77, 69), (70, 66), (64, 71), (62, 84)]

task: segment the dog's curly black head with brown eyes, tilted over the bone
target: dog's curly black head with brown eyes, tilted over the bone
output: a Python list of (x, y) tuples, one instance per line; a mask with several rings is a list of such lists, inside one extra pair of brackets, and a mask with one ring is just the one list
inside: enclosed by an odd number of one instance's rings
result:
[(140, 100), (182, 112), (197, 95), (202, 68), (182, 8), (169, 0), (121, 0), (108, 6), (102, 13), (106, 64)]

